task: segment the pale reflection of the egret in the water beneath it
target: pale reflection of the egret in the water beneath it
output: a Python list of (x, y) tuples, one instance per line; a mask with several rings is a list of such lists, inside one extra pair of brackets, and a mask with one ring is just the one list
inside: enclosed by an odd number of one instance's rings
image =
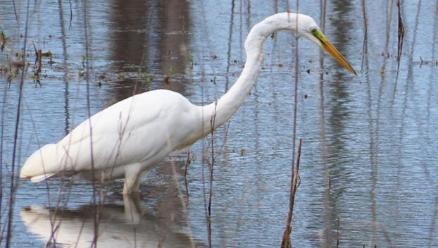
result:
[(123, 204), (28, 206), (20, 215), (27, 230), (50, 247), (199, 247), (187, 225), (170, 224), (145, 209), (139, 198), (124, 195)]

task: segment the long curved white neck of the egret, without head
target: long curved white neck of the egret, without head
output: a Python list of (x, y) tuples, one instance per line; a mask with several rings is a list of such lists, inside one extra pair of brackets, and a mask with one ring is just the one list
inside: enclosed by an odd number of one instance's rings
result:
[(254, 25), (245, 41), (246, 63), (241, 75), (218, 101), (203, 107), (204, 135), (230, 120), (242, 106), (260, 74), (265, 39), (277, 30), (294, 30), (295, 20), (295, 13), (279, 13)]

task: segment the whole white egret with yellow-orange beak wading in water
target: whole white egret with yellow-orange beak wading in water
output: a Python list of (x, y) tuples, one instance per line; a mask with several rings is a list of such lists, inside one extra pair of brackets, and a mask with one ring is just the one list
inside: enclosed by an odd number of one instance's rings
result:
[(60, 142), (35, 151), (23, 164), (20, 178), (33, 182), (74, 174), (96, 181), (124, 178), (123, 194), (138, 192), (141, 178), (166, 156), (230, 120), (256, 84), (265, 39), (278, 30), (310, 39), (356, 75), (315, 20), (299, 13), (277, 13), (251, 28), (242, 74), (218, 101), (196, 106), (164, 89), (134, 95), (94, 114)]

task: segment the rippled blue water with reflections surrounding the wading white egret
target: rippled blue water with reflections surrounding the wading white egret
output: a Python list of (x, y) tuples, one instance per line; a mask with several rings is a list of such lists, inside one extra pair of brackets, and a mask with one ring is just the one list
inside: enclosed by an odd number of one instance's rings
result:
[[(214, 101), (242, 70), (242, 44), (249, 28), (276, 9), (295, 8), (284, 3), (217, 1), (34, 4), (29, 12), (29, 61), (35, 59), (34, 42), (43, 51), (50, 50), (55, 63), (49, 66), (49, 59), (43, 60), (41, 85), (29, 76), (23, 85), (15, 173), (38, 147), (60, 140), (89, 113), (134, 92), (165, 88), (196, 104)], [(325, 34), (356, 69), (357, 77), (325, 55), (326, 73), (321, 78), (319, 49), (299, 41), (296, 136), (303, 139), (303, 147), (292, 221), (294, 247), (336, 247), (337, 240), (339, 247), (438, 244), (437, 6), (403, 2), (406, 33), (396, 78), (398, 18), (396, 6), (390, 4), (366, 4), (365, 49), (362, 1), (327, 5)], [(1, 2), (0, 7), (0, 27), (9, 38), (0, 57), (1, 64), (8, 65), (11, 54), (24, 44), (20, 34), (25, 34), (26, 6), (24, 2), (15, 6), (18, 18), (11, 2)], [(320, 23), (318, 4), (300, 2), (299, 10)], [(83, 74), (85, 25), (91, 68), (88, 90)], [(215, 132), (213, 247), (280, 246), (289, 206), (295, 46), (287, 32), (267, 40), (258, 84), (230, 124)], [(32, 75), (32, 66), (27, 75)], [(7, 73), (0, 78), (4, 228), (20, 80), (7, 82)], [(189, 199), (182, 176), (184, 156), (151, 173), (138, 199), (123, 199), (123, 182), (109, 185), (98, 247), (208, 246), (208, 165), (203, 158), (211, 158), (210, 142), (211, 138), (197, 142), (191, 149)], [(65, 209), (57, 246), (91, 244), (92, 206), (99, 202), (93, 198), (91, 183), (14, 182), (18, 186), (12, 247), (44, 247), (56, 228), (45, 208), (57, 204)]]

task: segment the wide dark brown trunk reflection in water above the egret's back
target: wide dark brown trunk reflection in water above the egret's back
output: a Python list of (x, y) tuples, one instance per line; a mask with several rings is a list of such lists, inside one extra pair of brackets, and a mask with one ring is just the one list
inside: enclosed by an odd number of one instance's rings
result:
[[(183, 1), (115, 1), (109, 13), (115, 101), (149, 89), (184, 91), (191, 63), (189, 13)], [(125, 74), (126, 73), (126, 74)]]

